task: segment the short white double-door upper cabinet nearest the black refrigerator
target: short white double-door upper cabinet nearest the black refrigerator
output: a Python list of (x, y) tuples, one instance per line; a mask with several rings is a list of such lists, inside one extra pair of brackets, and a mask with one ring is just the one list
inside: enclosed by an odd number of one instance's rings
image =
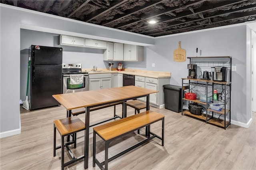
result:
[(60, 35), (59, 44), (84, 46), (84, 38)]

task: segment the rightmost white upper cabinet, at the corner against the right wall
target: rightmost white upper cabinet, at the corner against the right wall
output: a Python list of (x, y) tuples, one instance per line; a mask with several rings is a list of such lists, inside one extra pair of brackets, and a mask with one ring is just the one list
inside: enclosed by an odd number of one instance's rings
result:
[(143, 61), (143, 47), (124, 44), (124, 61)]

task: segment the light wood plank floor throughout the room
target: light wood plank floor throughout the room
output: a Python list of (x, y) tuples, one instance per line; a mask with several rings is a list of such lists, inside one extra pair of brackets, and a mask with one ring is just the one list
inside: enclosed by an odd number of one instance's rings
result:
[[(249, 128), (230, 125), (226, 130), (182, 116), (167, 109), (151, 110), (165, 115), (164, 147), (154, 138), (109, 163), (110, 170), (256, 170), (256, 113)], [(91, 123), (111, 117), (113, 107), (91, 112)], [(121, 106), (117, 106), (120, 113)], [(144, 110), (142, 110), (144, 111)], [(134, 109), (128, 107), (128, 115)], [(53, 157), (53, 121), (66, 117), (64, 107), (27, 112), (21, 107), (21, 134), (0, 139), (1, 170), (58, 170), (60, 150)], [(78, 115), (84, 121), (84, 114)], [(161, 123), (151, 130), (160, 134)], [(142, 129), (142, 134), (144, 129)], [(111, 143), (109, 156), (132, 146), (144, 136), (136, 132)], [(75, 154), (83, 154), (84, 132), (78, 133)], [(57, 143), (60, 136), (57, 132)], [(104, 143), (96, 138), (96, 157), (104, 159)], [(72, 148), (72, 147), (71, 147)], [(68, 159), (68, 156), (66, 155)], [(82, 170), (84, 162), (76, 162), (65, 169)], [(90, 128), (89, 170), (92, 167), (92, 128)]]

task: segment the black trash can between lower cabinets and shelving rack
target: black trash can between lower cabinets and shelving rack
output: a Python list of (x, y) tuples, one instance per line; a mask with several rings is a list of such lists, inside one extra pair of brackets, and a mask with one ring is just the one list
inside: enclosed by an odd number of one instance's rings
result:
[(181, 112), (182, 87), (177, 85), (163, 85), (164, 87), (164, 108)]

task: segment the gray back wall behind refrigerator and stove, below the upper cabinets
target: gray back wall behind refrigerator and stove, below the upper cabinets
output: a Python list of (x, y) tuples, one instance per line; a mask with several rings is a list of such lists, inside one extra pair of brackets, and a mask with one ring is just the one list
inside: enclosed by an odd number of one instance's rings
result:
[[(49, 47), (63, 47), (62, 63), (82, 63), (82, 68), (107, 68), (108, 61), (103, 61), (103, 49), (73, 47), (58, 45), (58, 35), (20, 29), (20, 99), (26, 98), (26, 84), (28, 74), (28, 47), (42, 45)], [(113, 62), (114, 67), (117, 61)]]

